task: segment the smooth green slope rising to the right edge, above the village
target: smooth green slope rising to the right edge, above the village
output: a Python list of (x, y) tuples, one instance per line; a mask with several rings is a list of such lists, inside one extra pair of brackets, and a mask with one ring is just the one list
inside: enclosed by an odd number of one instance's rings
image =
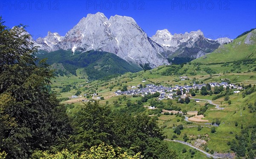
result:
[(252, 36), (250, 38), (253, 41), (252, 44), (245, 44), (246, 37), (249, 33), (235, 39), (232, 43), (222, 45), (210, 54), (200, 57), (193, 62), (200, 62), (203, 64), (208, 63), (221, 63), (221, 62), (233, 62), (243, 59), (255, 59), (256, 58), (256, 30), (251, 31)]

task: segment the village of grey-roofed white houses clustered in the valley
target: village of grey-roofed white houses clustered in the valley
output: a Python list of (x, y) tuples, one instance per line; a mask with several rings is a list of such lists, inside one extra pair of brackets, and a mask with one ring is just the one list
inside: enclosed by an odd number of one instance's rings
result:
[[(224, 88), (227, 88), (227, 86), (229, 86), (230, 88), (234, 88), (234, 89), (242, 89), (242, 87), (237, 87), (234, 84), (228, 84), (227, 82), (214, 82), (214, 83), (209, 83), (211, 87), (215, 87), (218, 86), (220, 87), (221, 85)], [(175, 85), (174, 87), (165, 87), (163, 85), (154, 85), (154, 84), (146, 84), (145, 88), (140, 88), (140, 89), (130, 89), (128, 91), (116, 91), (115, 94), (116, 95), (136, 95), (136, 94), (140, 94), (142, 97), (144, 97), (145, 95), (148, 94), (154, 94), (156, 92), (160, 93), (160, 96), (158, 97), (158, 100), (163, 100), (163, 99), (174, 99), (175, 97), (177, 97), (176, 92), (177, 90), (181, 91), (181, 94), (186, 96), (186, 93), (189, 92), (190, 89), (196, 89), (198, 88), (199, 90), (201, 90), (201, 88), (203, 86), (206, 86), (206, 84), (193, 84), (193, 86), (191, 85)], [(137, 85), (137, 87), (140, 87), (140, 85)], [(131, 86), (131, 88), (136, 88), (136, 86)], [(185, 89), (185, 92), (183, 93), (183, 90)]]

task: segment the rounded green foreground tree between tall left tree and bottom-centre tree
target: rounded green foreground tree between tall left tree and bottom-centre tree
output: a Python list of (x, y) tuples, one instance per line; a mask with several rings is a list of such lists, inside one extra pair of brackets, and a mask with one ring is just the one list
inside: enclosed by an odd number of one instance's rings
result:
[(110, 108), (99, 105), (99, 101), (84, 103), (73, 119), (71, 150), (81, 152), (102, 142), (111, 144), (113, 131), (110, 128), (113, 123), (110, 113)]

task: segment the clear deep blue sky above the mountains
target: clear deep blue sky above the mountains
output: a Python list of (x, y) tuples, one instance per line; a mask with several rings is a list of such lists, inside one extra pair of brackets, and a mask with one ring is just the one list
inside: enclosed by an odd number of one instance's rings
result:
[(167, 28), (172, 34), (197, 31), (205, 37), (236, 38), (256, 28), (256, 0), (1, 0), (0, 15), (10, 28), (27, 25), (33, 38), (48, 31), (64, 36), (82, 17), (102, 12), (106, 17), (133, 17), (148, 34)]

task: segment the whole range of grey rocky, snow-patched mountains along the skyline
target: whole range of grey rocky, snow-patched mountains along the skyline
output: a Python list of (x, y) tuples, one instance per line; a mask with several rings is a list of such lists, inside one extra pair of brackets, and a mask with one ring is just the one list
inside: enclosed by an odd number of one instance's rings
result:
[(141, 68), (189, 62), (232, 42), (208, 39), (200, 30), (172, 35), (164, 29), (148, 37), (133, 18), (115, 15), (108, 19), (100, 12), (87, 14), (64, 37), (48, 31), (46, 37), (31, 41), (47, 52), (105, 51)]

